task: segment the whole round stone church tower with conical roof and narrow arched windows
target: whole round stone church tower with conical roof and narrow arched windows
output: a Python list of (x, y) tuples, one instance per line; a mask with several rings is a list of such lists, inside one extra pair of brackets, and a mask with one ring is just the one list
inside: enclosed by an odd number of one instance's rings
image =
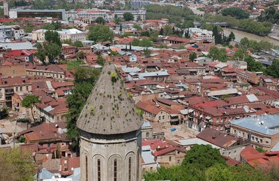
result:
[(77, 120), (81, 180), (139, 181), (141, 125), (114, 65), (105, 65)]

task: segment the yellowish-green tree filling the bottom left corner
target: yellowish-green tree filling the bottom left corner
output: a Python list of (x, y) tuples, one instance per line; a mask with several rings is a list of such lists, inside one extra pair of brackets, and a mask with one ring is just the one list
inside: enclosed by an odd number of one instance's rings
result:
[(0, 180), (33, 180), (35, 171), (31, 152), (19, 148), (0, 150)]

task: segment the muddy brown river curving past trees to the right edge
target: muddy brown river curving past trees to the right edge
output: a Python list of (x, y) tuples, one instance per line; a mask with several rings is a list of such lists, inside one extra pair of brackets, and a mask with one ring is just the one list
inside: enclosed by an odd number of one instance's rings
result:
[(279, 40), (275, 40), (273, 38), (269, 38), (269, 37), (263, 37), (263, 36), (257, 36), (255, 34), (252, 34), (252, 33), (246, 33), (244, 31), (239, 31), (239, 30), (236, 30), (236, 29), (227, 29), (227, 28), (223, 28), (224, 30), (224, 33), (225, 33), (225, 36), (229, 36), (229, 33), (233, 32), (234, 33), (234, 36), (235, 36), (235, 41), (236, 42), (240, 42), (240, 40), (242, 38), (245, 38), (247, 37), (249, 40), (256, 40), (256, 41), (260, 41), (260, 40), (264, 40), (264, 41), (268, 41), (268, 42), (271, 42), (273, 43), (273, 45), (278, 45), (279, 46)]

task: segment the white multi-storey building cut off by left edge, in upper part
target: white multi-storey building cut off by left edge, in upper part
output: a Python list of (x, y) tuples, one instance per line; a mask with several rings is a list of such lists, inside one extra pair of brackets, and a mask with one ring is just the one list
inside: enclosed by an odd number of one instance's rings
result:
[(24, 30), (20, 26), (0, 26), (0, 42), (20, 40), (24, 36)]

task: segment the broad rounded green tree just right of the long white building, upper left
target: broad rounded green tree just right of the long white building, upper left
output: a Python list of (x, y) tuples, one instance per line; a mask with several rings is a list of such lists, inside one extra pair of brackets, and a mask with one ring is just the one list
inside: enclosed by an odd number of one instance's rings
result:
[(88, 38), (95, 42), (112, 41), (113, 32), (108, 26), (97, 24), (96, 26), (91, 26), (89, 28)]

